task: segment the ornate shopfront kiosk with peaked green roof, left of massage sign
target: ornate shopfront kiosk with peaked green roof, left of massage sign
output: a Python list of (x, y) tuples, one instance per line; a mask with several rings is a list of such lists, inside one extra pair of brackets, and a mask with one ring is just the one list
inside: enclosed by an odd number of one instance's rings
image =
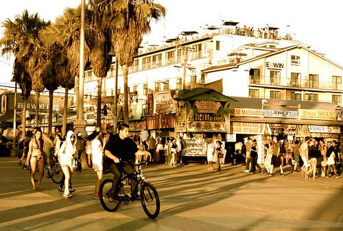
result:
[(182, 138), (184, 160), (205, 160), (209, 141), (222, 141), (230, 132), (230, 102), (213, 89), (180, 90), (175, 130)]

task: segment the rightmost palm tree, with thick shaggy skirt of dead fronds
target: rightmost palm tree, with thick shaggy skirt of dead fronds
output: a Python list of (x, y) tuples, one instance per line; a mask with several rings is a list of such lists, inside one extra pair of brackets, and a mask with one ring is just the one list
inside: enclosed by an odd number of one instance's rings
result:
[(165, 16), (165, 8), (153, 0), (104, 0), (106, 20), (110, 19), (111, 39), (123, 71), (124, 121), (128, 118), (128, 67), (137, 56), (143, 35), (151, 31), (150, 21)]

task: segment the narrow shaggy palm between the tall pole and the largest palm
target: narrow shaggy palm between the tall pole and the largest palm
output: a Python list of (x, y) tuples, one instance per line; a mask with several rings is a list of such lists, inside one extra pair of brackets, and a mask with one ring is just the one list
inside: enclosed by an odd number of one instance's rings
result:
[(108, 56), (111, 51), (112, 43), (109, 34), (109, 24), (104, 19), (105, 6), (99, 4), (102, 0), (89, 1), (92, 9), (92, 21), (90, 33), (88, 33), (88, 44), (90, 46), (89, 60), (93, 73), (97, 76), (97, 127), (101, 127), (101, 108), (102, 108), (102, 78), (106, 77), (110, 69), (112, 58)]

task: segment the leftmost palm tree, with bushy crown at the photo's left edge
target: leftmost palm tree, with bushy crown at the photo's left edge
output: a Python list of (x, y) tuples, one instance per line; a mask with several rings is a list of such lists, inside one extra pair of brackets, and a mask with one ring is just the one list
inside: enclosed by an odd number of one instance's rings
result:
[(3, 46), (1, 51), (2, 55), (7, 54), (14, 55), (14, 69), (13, 75), (16, 82), (19, 83), (19, 87), (22, 91), (23, 97), (23, 116), (22, 126), (23, 133), (22, 138), (25, 137), (25, 112), (26, 112), (26, 100), (29, 97), (32, 90), (32, 62), (29, 59), (32, 57), (34, 47), (36, 46), (36, 40), (38, 39), (38, 33), (40, 29), (45, 27), (48, 23), (41, 20), (38, 14), (29, 15), (27, 10), (24, 10), (21, 16), (16, 16), (14, 22), (10, 19), (6, 19), (3, 23), (5, 27), (4, 36), (0, 40), (0, 45)]

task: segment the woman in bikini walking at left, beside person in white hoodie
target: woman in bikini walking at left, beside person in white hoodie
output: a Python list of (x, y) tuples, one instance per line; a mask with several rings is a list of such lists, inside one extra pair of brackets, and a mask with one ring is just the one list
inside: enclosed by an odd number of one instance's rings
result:
[[(34, 130), (34, 136), (31, 141), (29, 141), (29, 152), (27, 153), (25, 165), (31, 165), (31, 174), (29, 175), (29, 179), (32, 183), (32, 189), (39, 189), (44, 175), (43, 138), (41, 130)], [(36, 171), (37, 166), (39, 167), (39, 175), (38, 182), (35, 184), (34, 172)]]

